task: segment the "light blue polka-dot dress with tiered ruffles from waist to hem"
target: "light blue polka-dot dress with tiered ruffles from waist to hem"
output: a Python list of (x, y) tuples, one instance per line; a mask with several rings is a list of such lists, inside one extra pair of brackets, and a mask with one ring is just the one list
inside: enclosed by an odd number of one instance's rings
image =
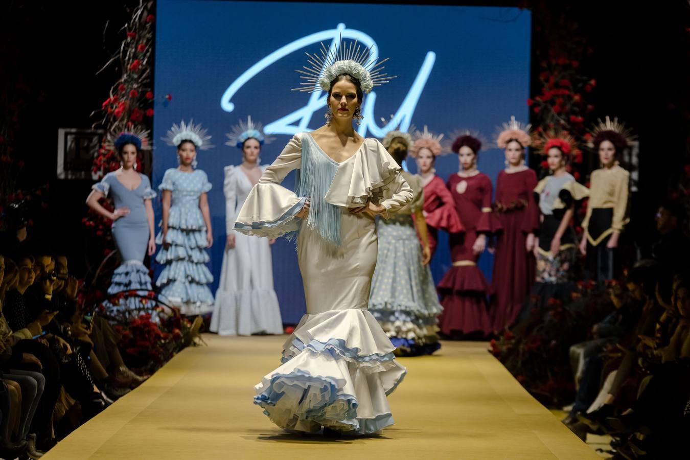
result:
[[(213, 294), (207, 286), (213, 275), (206, 267), (206, 223), (199, 208), (199, 197), (211, 189), (211, 183), (202, 170), (183, 172), (170, 168), (158, 189), (170, 190), (172, 201), (166, 235), (170, 246), (161, 247), (156, 256), (156, 261), (165, 266), (156, 284), (182, 314), (213, 311)], [(163, 244), (162, 230), (156, 243)]]

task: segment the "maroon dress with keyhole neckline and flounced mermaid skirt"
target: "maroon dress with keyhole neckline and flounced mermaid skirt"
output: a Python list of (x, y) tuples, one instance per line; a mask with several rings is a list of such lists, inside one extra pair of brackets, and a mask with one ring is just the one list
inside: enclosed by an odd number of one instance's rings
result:
[(500, 226), (491, 212), (491, 179), (482, 172), (472, 177), (453, 174), (448, 188), (465, 231), (450, 235), (453, 266), (438, 285), (443, 306), (439, 328), (449, 337), (477, 332), (486, 335), (491, 332), (486, 307), (491, 288), (477, 267), (479, 256), (475, 256), (472, 246), (477, 234), (491, 234)]

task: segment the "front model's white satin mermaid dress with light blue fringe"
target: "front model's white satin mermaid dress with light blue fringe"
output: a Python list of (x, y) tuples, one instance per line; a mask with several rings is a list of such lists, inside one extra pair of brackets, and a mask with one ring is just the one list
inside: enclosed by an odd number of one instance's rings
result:
[[(298, 169), (296, 193), (279, 184)], [(306, 218), (295, 217), (310, 197)], [(307, 314), (286, 341), (282, 366), (255, 386), (255, 404), (279, 427), (370, 434), (393, 424), (391, 394), (406, 369), (366, 310), (377, 257), (374, 218), (348, 208), (380, 203), (382, 217), (413, 199), (400, 167), (375, 139), (337, 163), (297, 134), (247, 197), (235, 230), (297, 237)]]

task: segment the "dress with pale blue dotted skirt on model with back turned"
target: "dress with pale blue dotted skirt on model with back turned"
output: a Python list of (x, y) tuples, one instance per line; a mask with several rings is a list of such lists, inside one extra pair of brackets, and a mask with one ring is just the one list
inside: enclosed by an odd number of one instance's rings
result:
[(441, 348), (438, 315), (443, 307), (429, 266), (422, 266), (414, 212), (424, 206), (422, 178), (403, 171), (415, 198), (391, 219), (378, 219), (379, 254), (371, 282), (369, 311), (396, 346), (398, 356), (431, 354)]

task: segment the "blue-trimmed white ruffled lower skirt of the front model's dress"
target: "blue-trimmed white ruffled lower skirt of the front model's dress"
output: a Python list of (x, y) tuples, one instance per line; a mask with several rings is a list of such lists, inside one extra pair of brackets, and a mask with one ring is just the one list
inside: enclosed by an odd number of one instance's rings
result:
[(387, 396), (406, 369), (368, 311), (306, 314), (284, 348), (282, 366), (255, 386), (255, 403), (277, 426), (361, 435), (393, 423)]

